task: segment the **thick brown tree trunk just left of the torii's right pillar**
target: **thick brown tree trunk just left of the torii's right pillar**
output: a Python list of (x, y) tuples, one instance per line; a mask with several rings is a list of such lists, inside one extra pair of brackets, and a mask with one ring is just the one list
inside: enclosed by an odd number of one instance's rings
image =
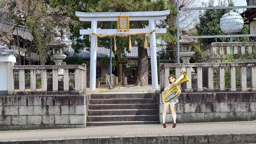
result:
[(138, 76), (134, 86), (148, 85), (148, 52), (138, 42)]

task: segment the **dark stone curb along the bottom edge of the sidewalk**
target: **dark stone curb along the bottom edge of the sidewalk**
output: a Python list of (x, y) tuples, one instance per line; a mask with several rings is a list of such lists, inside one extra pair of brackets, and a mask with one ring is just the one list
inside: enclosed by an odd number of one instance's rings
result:
[(23, 139), (0, 141), (0, 144), (212, 144), (212, 143), (256, 143), (256, 133), (236, 134), (181, 134), (181, 135), (139, 135), (88, 138)]

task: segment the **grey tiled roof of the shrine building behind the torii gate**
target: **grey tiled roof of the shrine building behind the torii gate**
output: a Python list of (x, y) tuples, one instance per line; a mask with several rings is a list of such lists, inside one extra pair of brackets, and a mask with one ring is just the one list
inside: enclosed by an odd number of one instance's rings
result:
[[(74, 50), (72, 49), (71, 45), (69, 45), (69, 47), (64, 49), (64, 52), (67, 53), (68, 57), (70, 57), (70, 56), (79, 56), (81, 58), (90, 58), (91, 53), (90, 53), (90, 51), (88, 51), (86, 49), (90, 49), (90, 48), (85, 47), (79, 53), (75, 53)], [(165, 49), (166, 49), (166, 45), (159, 46), (159, 47), (157, 47), (157, 52), (159, 50), (165, 50)], [(148, 56), (150, 57), (150, 48), (148, 48), (147, 50), (148, 50)], [(125, 50), (125, 56), (127, 58), (134, 58), (134, 57), (136, 58), (136, 57), (138, 57), (138, 47), (133, 46), (131, 48), (130, 53)], [(97, 58), (104, 58), (104, 57), (110, 57), (110, 49), (107, 49), (105, 47), (98, 47)], [(112, 52), (112, 57), (114, 57), (113, 52)]]

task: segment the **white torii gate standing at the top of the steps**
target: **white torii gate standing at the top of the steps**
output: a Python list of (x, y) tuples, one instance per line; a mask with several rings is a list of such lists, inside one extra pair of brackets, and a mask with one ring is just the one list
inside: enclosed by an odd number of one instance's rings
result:
[[(155, 20), (165, 20), (170, 11), (153, 11), (153, 12), (76, 12), (76, 17), (80, 21), (91, 21), (91, 29), (81, 29), (80, 35), (90, 35), (94, 32), (97, 34), (125, 34), (136, 32), (152, 32), (149, 35), (150, 53), (151, 53), (151, 74), (152, 89), (158, 89), (157, 77), (157, 51), (155, 33), (166, 33), (166, 28), (155, 27)], [(117, 16), (129, 16), (130, 21), (149, 21), (149, 27), (145, 29), (129, 29), (129, 32), (117, 32), (117, 29), (97, 29), (98, 21), (117, 21)], [(90, 90), (96, 90), (96, 36), (91, 35), (91, 58), (90, 58)]]

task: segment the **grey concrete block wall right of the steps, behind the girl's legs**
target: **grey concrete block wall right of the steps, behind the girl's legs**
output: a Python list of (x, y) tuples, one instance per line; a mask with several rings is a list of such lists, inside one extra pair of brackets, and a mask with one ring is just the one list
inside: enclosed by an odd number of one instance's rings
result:
[[(177, 123), (256, 120), (255, 92), (183, 93), (175, 104)], [(159, 120), (163, 123), (164, 103), (158, 94)], [(165, 118), (173, 123), (170, 107)]]

